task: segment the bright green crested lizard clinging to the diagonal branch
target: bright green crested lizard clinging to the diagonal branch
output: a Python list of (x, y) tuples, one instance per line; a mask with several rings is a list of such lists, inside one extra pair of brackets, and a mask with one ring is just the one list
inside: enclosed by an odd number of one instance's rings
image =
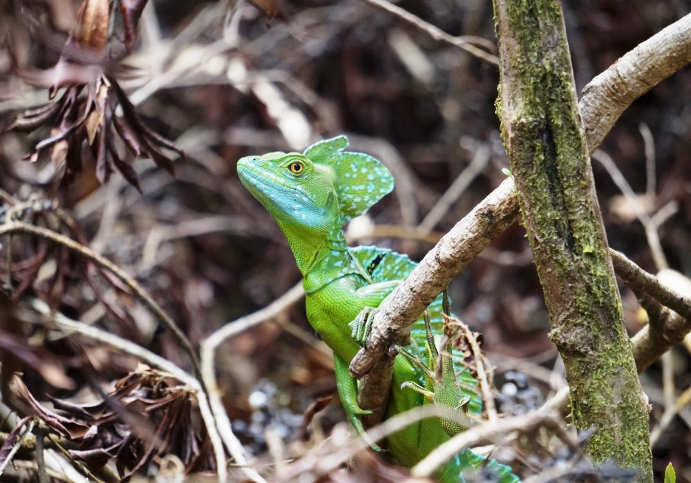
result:
[[(343, 408), (362, 434), (360, 417), (368, 411), (357, 404), (357, 381), (348, 373), (348, 365), (366, 339), (368, 320), (415, 264), (390, 250), (345, 244), (343, 224), (365, 213), (394, 185), (391, 173), (379, 161), (345, 151), (347, 147), (348, 139), (339, 136), (314, 144), (303, 154), (243, 157), (238, 161), (238, 175), (274, 217), (292, 248), (304, 277), (307, 318), (334, 351)], [(395, 359), (387, 415), (432, 403), (449, 417), (422, 420), (387, 438), (388, 451), (403, 466), (413, 466), (450, 435), (463, 431), (457, 421), (464, 420), (466, 411), (480, 413), (482, 408), (473, 391), (477, 382), (462, 368), (455, 375), (450, 357), (442, 357), (442, 383), (435, 380), (434, 335), (442, 335), (443, 330), (440, 306), (441, 296), (430, 305), (431, 322), (415, 323), (413, 344)], [(438, 476), (445, 482), (465, 481), (481, 468), (493, 471), (501, 482), (518, 481), (508, 466), (469, 450), (448, 462)]]

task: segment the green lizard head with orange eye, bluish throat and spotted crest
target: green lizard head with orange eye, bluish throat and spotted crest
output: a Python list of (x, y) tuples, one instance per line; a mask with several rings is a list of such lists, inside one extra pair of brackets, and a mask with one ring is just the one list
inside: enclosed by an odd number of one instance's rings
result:
[(243, 157), (238, 175), (247, 190), (284, 229), (321, 235), (365, 213), (393, 189), (393, 177), (377, 159), (348, 152), (345, 136), (299, 152)]

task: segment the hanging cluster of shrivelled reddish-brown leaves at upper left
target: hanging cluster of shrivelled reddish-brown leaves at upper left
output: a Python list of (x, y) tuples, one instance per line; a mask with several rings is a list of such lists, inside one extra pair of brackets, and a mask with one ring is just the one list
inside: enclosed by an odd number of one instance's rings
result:
[[(124, 21), (130, 29), (130, 43), (146, 1), (122, 1)], [(180, 157), (184, 153), (171, 141), (158, 135), (138, 116), (126, 93), (117, 84), (114, 69), (104, 57), (110, 11), (108, 0), (85, 0), (77, 14), (75, 32), (66, 41), (55, 67), (26, 72), (30, 83), (48, 88), (50, 98), (65, 89), (57, 101), (17, 116), (8, 130), (32, 131), (41, 126), (51, 129), (50, 137), (39, 141), (25, 159), (37, 161), (48, 152), (61, 170), (66, 187), (84, 170), (84, 162), (96, 164), (96, 176), (106, 183), (113, 170), (138, 190), (137, 173), (118, 148), (124, 146), (134, 157), (153, 159), (173, 174), (173, 161), (162, 150)], [(116, 111), (122, 108), (122, 115)]]

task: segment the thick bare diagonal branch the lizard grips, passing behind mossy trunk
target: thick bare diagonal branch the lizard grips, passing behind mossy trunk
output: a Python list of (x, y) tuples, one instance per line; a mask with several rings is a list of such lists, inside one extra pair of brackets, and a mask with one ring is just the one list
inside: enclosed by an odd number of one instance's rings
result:
[[(618, 116), (630, 103), (691, 62), (691, 35), (688, 34), (690, 31), (691, 14), (641, 43), (586, 86), (578, 107), (585, 126), (585, 141), (589, 153), (598, 147), (614, 126)], [(679, 52), (682, 52), (682, 55), (679, 55)], [(665, 68), (661, 68), (661, 65)], [(631, 66), (636, 66), (636, 69), (632, 69)], [(627, 101), (625, 105), (623, 99)], [(616, 112), (616, 116), (601, 115), (601, 112), (610, 111)], [(510, 189), (507, 189), (509, 185)], [(505, 221), (507, 226), (510, 226), (519, 218), (513, 189), (512, 180), (504, 181), (492, 195), (473, 210), (471, 215), (475, 216), (478, 210), (493, 210), (491, 204), (502, 204), (507, 207), (504, 208), (507, 210)], [(466, 219), (471, 215), (464, 217), (459, 224), (466, 223)], [(466, 235), (462, 243), (473, 244), (475, 240), (480, 240), (480, 245), (485, 248), (499, 233), (501, 232), (494, 231), (491, 225), (478, 226), (475, 232)], [(434, 250), (436, 249), (435, 247)], [(410, 325), (422, 313), (415, 298), (409, 297), (408, 293), (414, 293), (419, 299), (433, 299), (439, 293), (437, 287), (446, 286), (470, 262), (472, 257), (466, 259), (466, 255), (468, 253), (464, 246), (457, 245), (454, 253), (450, 255), (453, 259), (451, 270), (445, 270), (444, 266), (434, 259), (428, 260), (426, 266), (421, 264), (413, 270), (395, 294), (382, 304), (381, 311), (375, 317), (366, 348), (359, 351), (350, 366), (351, 373), (355, 376), (367, 374), (360, 389), (361, 406), (376, 412), (381, 408), (382, 402), (386, 404), (386, 398), (381, 397), (382, 392), (388, 393), (386, 390), (382, 391), (382, 388), (390, 386), (390, 368), (386, 360), (391, 356), (387, 355), (386, 350), (397, 340), (405, 339)], [(375, 365), (378, 369), (372, 370)]]

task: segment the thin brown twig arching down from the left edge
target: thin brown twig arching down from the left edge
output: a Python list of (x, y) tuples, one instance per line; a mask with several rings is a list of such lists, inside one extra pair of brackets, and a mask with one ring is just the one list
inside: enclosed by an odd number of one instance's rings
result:
[(88, 246), (75, 242), (73, 239), (68, 238), (65, 235), (61, 235), (60, 233), (55, 233), (53, 230), (24, 223), (23, 221), (10, 221), (6, 224), (0, 225), (0, 236), (12, 235), (13, 233), (28, 233), (30, 235), (48, 239), (51, 242), (55, 242), (66, 248), (69, 248), (70, 250), (79, 253), (79, 255), (82, 255), (89, 261), (98, 264), (107, 270), (110, 270), (113, 275), (124, 282), (124, 284), (126, 284), (126, 286), (128, 286), (135, 293), (135, 295), (137, 295), (137, 297), (144, 302), (144, 305), (147, 306), (149, 310), (151, 310), (160, 319), (164, 327), (173, 333), (178, 340), (178, 343), (182, 346), (182, 348), (184, 348), (184, 351), (187, 352), (197, 377), (200, 381), (202, 380), (199, 359), (197, 358), (194, 348), (192, 347), (191, 342), (189, 342), (187, 336), (180, 331), (180, 328), (178, 328), (175, 321), (173, 321), (173, 319), (163, 310), (163, 308), (158, 305), (153, 297), (151, 297), (149, 293), (146, 293), (146, 290), (144, 290), (144, 288), (142, 288), (142, 286), (140, 286), (135, 279), (130, 277), (124, 270), (122, 270), (122, 268), (115, 265), (106, 257), (96, 253), (94, 250), (91, 250), (91, 248), (88, 248)]

